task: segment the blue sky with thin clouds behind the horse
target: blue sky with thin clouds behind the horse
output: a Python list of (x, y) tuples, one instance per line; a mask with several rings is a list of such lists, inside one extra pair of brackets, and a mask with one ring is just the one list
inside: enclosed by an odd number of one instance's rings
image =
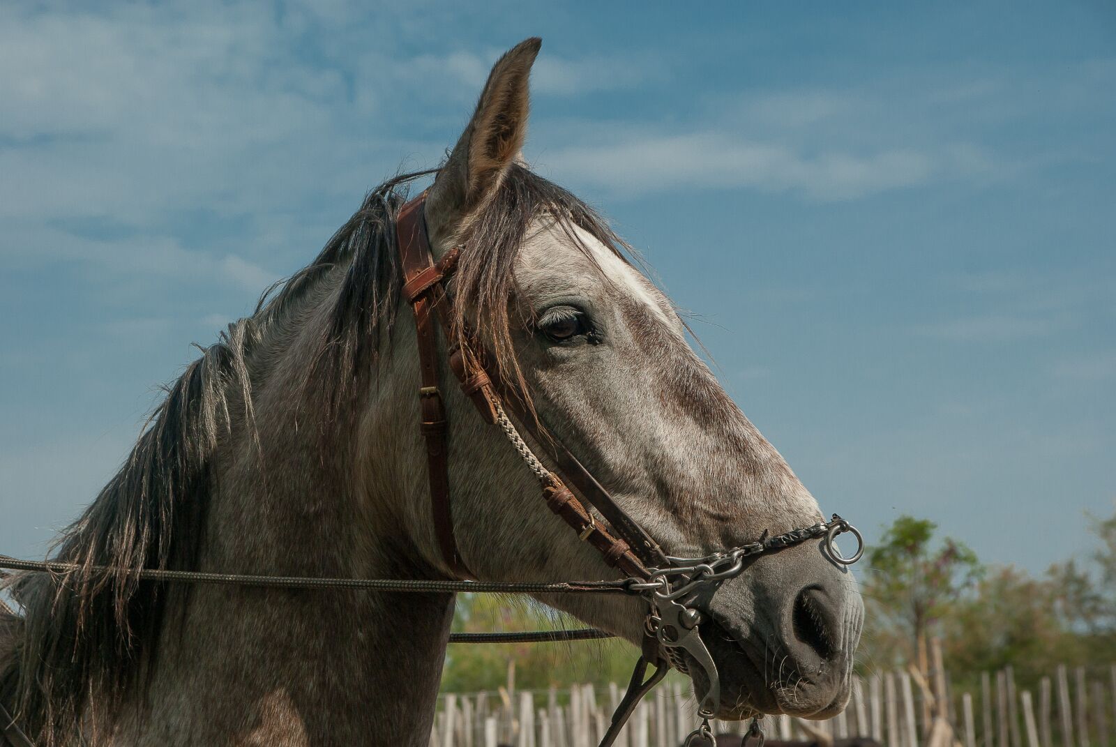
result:
[(608, 214), (828, 511), (992, 562), (1116, 498), (1116, 10), (0, 6), (0, 552), (155, 385), (543, 38), (527, 157)]

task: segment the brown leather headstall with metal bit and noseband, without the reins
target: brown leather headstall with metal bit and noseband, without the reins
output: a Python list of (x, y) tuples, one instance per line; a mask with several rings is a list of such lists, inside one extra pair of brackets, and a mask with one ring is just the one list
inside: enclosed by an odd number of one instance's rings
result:
[[(470, 343), (468, 334), (460, 334), (462, 331), (455, 327), (452, 300), (445, 288), (445, 282), (456, 268), (460, 247), (450, 249), (440, 260), (434, 261), (424, 216), (425, 197), (423, 193), (400, 209), (396, 237), (403, 269), (403, 295), (414, 312), (419, 342), (421, 431), (426, 444), (431, 514), (442, 559), (458, 577), (474, 577), (458, 550), (453, 534), (446, 415), (439, 387), (435, 318), (441, 323), (449, 344), (450, 368), (461, 390), (472, 400), (484, 422), (500, 428), (538, 478), (547, 506), (577, 531), (581, 540), (596, 548), (606, 564), (628, 575), (628, 593), (637, 594), (647, 602), (643, 653), (600, 747), (613, 744), (635, 706), (665, 677), (671, 665), (689, 673), (690, 661), (702, 669), (709, 681), (709, 688), (698, 709), (703, 724), (686, 740), (687, 745), (698, 744), (709, 735), (708, 720), (716, 712), (721, 688), (716, 664), (702, 641), (699, 629), (704, 615), (683, 602), (699, 590), (715, 588), (739, 575), (747, 557), (811, 538), (822, 539), (830, 559), (850, 565), (864, 554), (860, 533), (835, 514), (831, 521), (792, 529), (705, 557), (666, 555), (568, 449), (554, 435), (541, 432), (533, 413), (526, 411), (521, 399), (509, 391), (496, 368), (485, 365), (489, 356), (484, 351)], [(549, 457), (557, 470), (543, 465), (522, 438), (520, 430)], [(607, 524), (599, 521), (593, 509)], [(850, 557), (843, 557), (834, 545), (836, 536), (844, 531), (852, 533), (857, 539), (857, 550)], [(690, 661), (683, 653), (690, 654)], [(654, 664), (655, 671), (645, 680), (647, 664)], [(758, 722), (753, 724), (753, 731), (756, 730)]]

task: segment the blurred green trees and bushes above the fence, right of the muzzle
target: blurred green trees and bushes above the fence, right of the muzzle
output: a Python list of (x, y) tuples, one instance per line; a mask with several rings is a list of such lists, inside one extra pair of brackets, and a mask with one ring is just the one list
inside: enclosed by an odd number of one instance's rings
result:
[[(937, 636), (946, 670), (962, 682), (1007, 665), (1022, 687), (1058, 664), (1107, 668), (1116, 661), (1116, 515), (1089, 518), (1094, 549), (1032, 575), (987, 566), (964, 545), (935, 539), (933, 523), (899, 517), (863, 575), (862, 667), (925, 669), (918, 642)], [(1036, 531), (1020, 537), (1021, 549), (1049, 540)]]

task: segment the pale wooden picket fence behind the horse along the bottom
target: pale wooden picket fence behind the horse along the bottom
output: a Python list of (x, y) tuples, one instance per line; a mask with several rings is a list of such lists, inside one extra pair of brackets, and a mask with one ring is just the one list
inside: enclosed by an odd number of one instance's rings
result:
[[(1010, 667), (970, 679), (980, 681), (974, 692), (954, 692), (941, 668), (930, 677), (915, 668), (857, 677), (848, 707), (834, 718), (766, 717), (763, 729), (772, 739), (869, 737), (884, 747), (1109, 747), (1116, 736), (1116, 665), (1059, 667), (1036, 692), (1017, 688)], [(622, 696), (616, 683), (517, 691), (513, 680), (497, 692), (445, 693), (430, 744), (595, 747)], [(667, 680), (638, 706), (617, 746), (677, 747), (696, 726), (695, 711), (689, 684)], [(748, 724), (712, 726), (743, 734)]]

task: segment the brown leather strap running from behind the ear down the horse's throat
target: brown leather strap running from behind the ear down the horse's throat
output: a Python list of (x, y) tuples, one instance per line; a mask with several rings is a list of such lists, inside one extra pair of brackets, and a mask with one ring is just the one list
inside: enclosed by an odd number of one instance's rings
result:
[[(400, 209), (396, 237), (403, 268), (403, 293), (411, 301), (419, 342), (419, 401), (422, 411), (421, 429), (426, 443), (426, 467), (430, 478), (430, 508), (434, 518), (434, 534), (442, 558), (456, 576), (472, 578), (458, 552), (453, 536), (453, 515), (450, 506), (450, 456), (446, 450), (445, 403), (437, 387), (437, 329), (433, 307), (444, 300), (441, 280), (446, 266), (434, 265), (426, 240), (423, 200), (413, 200)], [(455, 260), (450, 260), (452, 266)]]

